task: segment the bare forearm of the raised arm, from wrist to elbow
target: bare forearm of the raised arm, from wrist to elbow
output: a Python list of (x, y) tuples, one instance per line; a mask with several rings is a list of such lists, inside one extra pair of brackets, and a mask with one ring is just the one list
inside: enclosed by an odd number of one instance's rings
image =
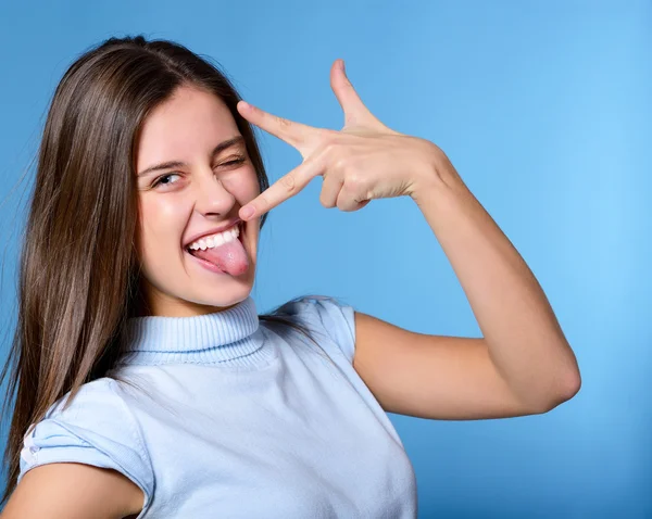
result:
[(524, 403), (553, 407), (580, 379), (546, 294), (448, 159), (435, 154), (431, 167), (412, 198), (451, 262), (493, 364)]

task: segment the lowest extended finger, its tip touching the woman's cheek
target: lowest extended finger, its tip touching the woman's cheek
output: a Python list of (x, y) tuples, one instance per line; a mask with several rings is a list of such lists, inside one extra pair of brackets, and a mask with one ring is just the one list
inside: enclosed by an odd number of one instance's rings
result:
[[(309, 157), (290, 173), (280, 177), (255, 199), (240, 208), (239, 217), (243, 220), (256, 218), (273, 210), (289, 198), (299, 193), (317, 175), (324, 172), (324, 162), (319, 157)], [(253, 212), (249, 213), (248, 210)]]

